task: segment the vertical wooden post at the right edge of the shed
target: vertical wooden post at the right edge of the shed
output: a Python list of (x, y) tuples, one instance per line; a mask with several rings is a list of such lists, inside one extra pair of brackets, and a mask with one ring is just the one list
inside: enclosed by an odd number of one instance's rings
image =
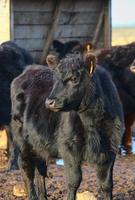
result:
[(112, 41), (111, 0), (104, 2), (104, 48), (110, 48)]

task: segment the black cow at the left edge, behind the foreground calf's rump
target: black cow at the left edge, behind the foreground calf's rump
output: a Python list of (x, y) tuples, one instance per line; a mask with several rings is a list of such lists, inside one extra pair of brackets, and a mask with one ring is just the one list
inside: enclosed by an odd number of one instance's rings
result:
[(32, 56), (14, 42), (7, 41), (0, 45), (0, 129), (6, 128), (8, 134), (9, 169), (17, 167), (17, 149), (13, 147), (10, 130), (10, 84), (22, 73), (26, 65), (32, 63)]

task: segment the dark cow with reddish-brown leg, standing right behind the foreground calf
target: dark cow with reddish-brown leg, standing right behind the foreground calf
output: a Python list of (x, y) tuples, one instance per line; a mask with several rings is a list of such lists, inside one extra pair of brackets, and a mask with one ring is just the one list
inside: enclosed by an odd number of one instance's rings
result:
[(131, 152), (132, 130), (135, 121), (135, 74), (130, 70), (135, 59), (135, 43), (101, 50), (98, 63), (107, 69), (118, 89), (124, 109), (125, 133), (122, 145), (127, 153)]

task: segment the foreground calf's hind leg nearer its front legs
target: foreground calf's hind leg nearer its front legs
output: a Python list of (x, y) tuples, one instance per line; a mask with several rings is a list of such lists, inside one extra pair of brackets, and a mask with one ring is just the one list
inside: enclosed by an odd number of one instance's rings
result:
[(45, 161), (35, 158), (35, 185), (39, 200), (47, 200), (45, 177), (47, 176), (47, 166)]

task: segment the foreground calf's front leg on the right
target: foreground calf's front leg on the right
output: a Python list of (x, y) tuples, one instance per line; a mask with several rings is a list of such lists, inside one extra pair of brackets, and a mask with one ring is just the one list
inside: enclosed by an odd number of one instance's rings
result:
[(112, 155), (112, 159), (107, 160), (105, 163), (97, 164), (99, 189), (105, 200), (112, 200), (114, 161), (115, 154)]

